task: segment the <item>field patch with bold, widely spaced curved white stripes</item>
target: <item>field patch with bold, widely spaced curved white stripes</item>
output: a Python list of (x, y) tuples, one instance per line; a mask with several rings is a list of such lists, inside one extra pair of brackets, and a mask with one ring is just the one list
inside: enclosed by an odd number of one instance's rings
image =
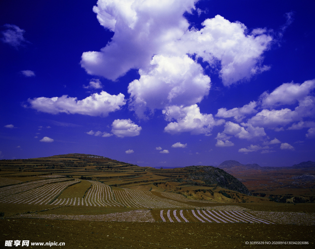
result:
[[(272, 222), (260, 219), (243, 211), (209, 211), (209, 210), (164, 210), (160, 217), (164, 222), (216, 222), (216, 223), (265, 223)], [(164, 217), (165, 216), (165, 217)], [(167, 218), (166, 218), (167, 217)]]

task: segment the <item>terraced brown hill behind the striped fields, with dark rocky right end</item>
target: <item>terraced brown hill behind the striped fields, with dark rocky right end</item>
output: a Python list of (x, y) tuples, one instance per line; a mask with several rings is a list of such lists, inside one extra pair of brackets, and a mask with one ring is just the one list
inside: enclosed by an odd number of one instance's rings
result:
[[(120, 162), (91, 154), (71, 153), (45, 158), (0, 160), (3, 170), (15, 170), (14, 176), (32, 177), (36, 174), (64, 174), (82, 180), (97, 180), (115, 187), (177, 191), (188, 195), (190, 188), (206, 189), (221, 187), (250, 195), (248, 189), (235, 177), (211, 166), (190, 166), (176, 169), (155, 169)], [(13, 174), (9, 174), (13, 176)], [(7, 175), (7, 176), (9, 176)], [(208, 189), (207, 189), (208, 188)], [(206, 193), (205, 193), (206, 194)]]

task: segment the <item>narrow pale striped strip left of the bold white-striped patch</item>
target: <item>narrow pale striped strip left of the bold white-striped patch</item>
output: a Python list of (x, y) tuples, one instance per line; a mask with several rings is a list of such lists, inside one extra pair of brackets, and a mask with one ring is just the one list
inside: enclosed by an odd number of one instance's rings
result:
[(122, 213), (110, 213), (101, 215), (61, 215), (61, 214), (20, 214), (12, 218), (36, 218), (36, 219), (69, 219), (85, 221), (121, 221), (121, 222), (154, 222), (150, 210), (133, 210)]

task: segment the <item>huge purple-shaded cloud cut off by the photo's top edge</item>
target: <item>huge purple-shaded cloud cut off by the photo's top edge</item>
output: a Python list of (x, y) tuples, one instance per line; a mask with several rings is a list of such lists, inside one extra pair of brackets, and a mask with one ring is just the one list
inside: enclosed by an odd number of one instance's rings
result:
[(115, 33), (100, 52), (84, 52), (81, 66), (89, 74), (111, 80), (129, 69), (145, 67), (163, 46), (180, 39), (188, 29), (183, 14), (190, 12), (195, 2), (99, 0), (93, 11), (100, 24)]

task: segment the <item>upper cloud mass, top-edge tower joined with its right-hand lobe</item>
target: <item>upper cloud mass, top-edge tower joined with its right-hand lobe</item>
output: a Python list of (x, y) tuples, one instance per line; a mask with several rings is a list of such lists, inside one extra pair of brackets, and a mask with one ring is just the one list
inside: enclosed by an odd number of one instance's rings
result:
[[(116, 80), (130, 69), (145, 69), (154, 55), (196, 55), (219, 69), (230, 86), (268, 70), (263, 53), (273, 37), (266, 29), (248, 30), (222, 16), (206, 19), (198, 30), (183, 16), (197, 0), (99, 0), (93, 11), (100, 25), (114, 32), (100, 51), (82, 54), (81, 66), (91, 75)], [(200, 13), (200, 10), (199, 10)]]

